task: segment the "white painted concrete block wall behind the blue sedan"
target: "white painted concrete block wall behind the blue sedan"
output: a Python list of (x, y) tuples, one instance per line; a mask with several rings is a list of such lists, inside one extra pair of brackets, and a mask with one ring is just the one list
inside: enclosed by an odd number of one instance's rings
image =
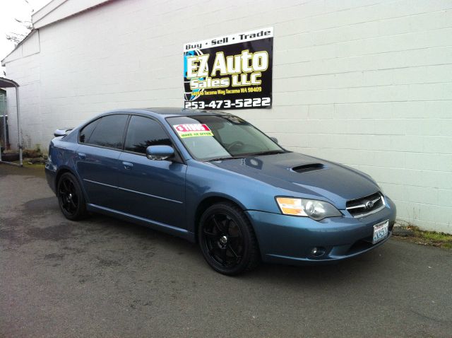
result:
[(105, 110), (181, 107), (184, 42), (268, 26), (273, 109), (237, 115), (452, 233), (452, 0), (112, 1), (40, 28), (40, 52), (6, 64), (23, 134), (43, 145)]

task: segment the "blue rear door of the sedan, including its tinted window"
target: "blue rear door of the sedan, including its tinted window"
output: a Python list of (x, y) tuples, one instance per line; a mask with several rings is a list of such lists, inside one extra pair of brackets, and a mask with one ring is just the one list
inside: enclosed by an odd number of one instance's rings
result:
[(119, 155), (129, 115), (106, 115), (81, 129), (76, 168), (88, 203), (117, 209)]

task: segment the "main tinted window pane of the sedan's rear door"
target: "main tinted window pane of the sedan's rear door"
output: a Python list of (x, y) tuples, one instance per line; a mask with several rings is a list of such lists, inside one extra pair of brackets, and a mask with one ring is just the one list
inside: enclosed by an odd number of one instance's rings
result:
[(106, 146), (108, 148), (122, 148), (122, 138), (127, 115), (109, 115), (102, 117), (89, 139), (89, 144)]

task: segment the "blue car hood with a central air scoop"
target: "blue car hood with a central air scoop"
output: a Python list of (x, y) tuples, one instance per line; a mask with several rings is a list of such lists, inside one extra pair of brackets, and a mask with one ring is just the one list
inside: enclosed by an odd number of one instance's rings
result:
[(301, 153), (280, 153), (211, 162), (274, 187), (295, 192), (295, 197), (329, 199), (338, 209), (347, 200), (379, 191), (371, 178), (358, 170)]

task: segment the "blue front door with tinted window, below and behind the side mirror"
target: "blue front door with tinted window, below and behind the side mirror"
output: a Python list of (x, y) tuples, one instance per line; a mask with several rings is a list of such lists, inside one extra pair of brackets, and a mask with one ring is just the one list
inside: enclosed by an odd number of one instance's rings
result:
[(132, 115), (119, 156), (121, 211), (170, 226), (186, 228), (186, 165), (177, 156), (173, 161), (153, 161), (145, 156), (148, 146), (173, 146), (160, 122)]

